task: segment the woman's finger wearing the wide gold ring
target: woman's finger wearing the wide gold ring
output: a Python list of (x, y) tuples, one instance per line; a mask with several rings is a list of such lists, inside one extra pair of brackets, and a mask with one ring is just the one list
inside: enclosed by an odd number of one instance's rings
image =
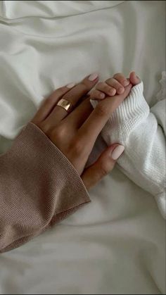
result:
[[(72, 103), (73, 108), (75, 108), (79, 99), (82, 99), (82, 96), (85, 96), (94, 87), (96, 82), (98, 82), (98, 74), (96, 73), (85, 77), (82, 82), (80, 82), (69, 92), (67, 92), (63, 96), (63, 99), (66, 99), (67, 101)], [(49, 118), (47, 118), (47, 121), (49, 121), (49, 123), (51, 124), (54, 124), (60, 122), (60, 120), (63, 120), (67, 115), (68, 112), (65, 111), (64, 108), (62, 108), (61, 106), (55, 106), (55, 108), (53, 108), (53, 111), (49, 115)]]

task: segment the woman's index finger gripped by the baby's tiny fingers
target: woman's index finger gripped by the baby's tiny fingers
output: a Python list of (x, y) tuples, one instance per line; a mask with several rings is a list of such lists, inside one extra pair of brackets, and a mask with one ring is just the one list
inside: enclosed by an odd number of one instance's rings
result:
[(132, 84), (129, 84), (125, 88), (123, 94), (115, 95), (111, 99), (110, 97), (106, 97), (106, 99), (99, 101), (96, 108), (94, 108), (94, 111), (89, 115), (89, 118), (87, 118), (82, 127), (79, 128), (79, 136), (85, 137), (85, 141), (89, 141), (89, 139), (95, 141), (104, 125), (106, 125), (110, 115), (129, 95), (131, 88)]

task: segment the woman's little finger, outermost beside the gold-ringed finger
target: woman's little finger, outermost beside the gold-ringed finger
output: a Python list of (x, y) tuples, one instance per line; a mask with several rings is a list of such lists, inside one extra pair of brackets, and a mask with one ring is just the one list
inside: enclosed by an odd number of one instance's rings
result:
[(34, 115), (32, 122), (35, 124), (45, 120), (53, 110), (53, 107), (56, 105), (58, 100), (74, 86), (74, 83), (70, 83), (67, 86), (56, 89), (47, 99), (43, 101), (39, 110)]

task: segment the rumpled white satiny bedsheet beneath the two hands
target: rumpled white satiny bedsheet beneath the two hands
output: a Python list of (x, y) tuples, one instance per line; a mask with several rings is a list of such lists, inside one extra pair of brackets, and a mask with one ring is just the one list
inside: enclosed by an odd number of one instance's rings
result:
[[(1, 153), (44, 96), (94, 71), (136, 70), (153, 106), (164, 33), (165, 1), (1, 1)], [(90, 204), (0, 256), (0, 294), (164, 293), (165, 221), (117, 168)]]

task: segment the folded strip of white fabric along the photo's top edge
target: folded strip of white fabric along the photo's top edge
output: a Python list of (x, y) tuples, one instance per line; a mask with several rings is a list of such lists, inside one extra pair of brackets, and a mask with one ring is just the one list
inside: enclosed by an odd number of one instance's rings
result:
[(89, 13), (98, 9), (117, 6), (125, 1), (1, 1), (1, 18), (10, 23), (17, 18), (61, 18)]

